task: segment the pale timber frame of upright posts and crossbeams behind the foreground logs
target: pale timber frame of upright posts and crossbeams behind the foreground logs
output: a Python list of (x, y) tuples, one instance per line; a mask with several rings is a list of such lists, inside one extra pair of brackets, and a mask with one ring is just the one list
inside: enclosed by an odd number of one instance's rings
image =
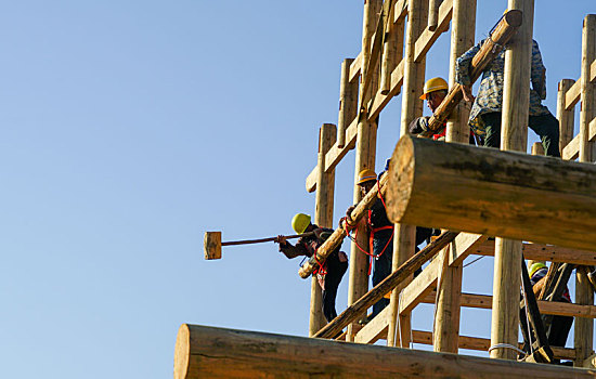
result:
[[(508, 0), (508, 3), (504, 2), (503, 5), (507, 5), (509, 10), (521, 10), (523, 24), (506, 53), (502, 148), (526, 152), (527, 128), (523, 120), (528, 118), (528, 102), (523, 99), (529, 99), (527, 83), (530, 66), (523, 62), (529, 62), (531, 53), (534, 0)], [(419, 100), (419, 95), (425, 80), (426, 53), (441, 34), (450, 29), (450, 86), (454, 86), (455, 60), (475, 44), (476, 6), (477, 0), (364, 2), (362, 51), (355, 58), (347, 58), (341, 64), (337, 128), (328, 123), (321, 128), (318, 165), (306, 179), (307, 191), (316, 191), (315, 220), (320, 225), (333, 224), (335, 168), (349, 151), (355, 149), (354, 178), (358, 178), (360, 170), (375, 167), (378, 116), (391, 99), (400, 92), (403, 94), (401, 135), (407, 133), (411, 120), (422, 116), (423, 101)], [(379, 26), (379, 21), (386, 22)], [(384, 34), (384, 38), (379, 38), (379, 32)], [(379, 48), (379, 43), (383, 48)], [(582, 45), (581, 78), (562, 79), (559, 82), (557, 118), (560, 125), (562, 159), (592, 162), (596, 158), (596, 15), (587, 15), (584, 19)], [(513, 66), (523, 69), (507, 68)], [(580, 132), (573, 135), (574, 107), (580, 102)], [(448, 143), (468, 141), (467, 119), (468, 110), (465, 106), (458, 106), (452, 113), (448, 120)], [(357, 192), (354, 200), (361, 200)], [(393, 272), (414, 253), (414, 230), (411, 225), (396, 224)], [(364, 228), (360, 236), (367, 240)], [(409, 348), (410, 342), (425, 343), (433, 345), (436, 352), (443, 353), (457, 353), (458, 349), (487, 351), (490, 347), (503, 343), (517, 345), (519, 261), (522, 253), (526, 259), (531, 260), (596, 265), (596, 252), (592, 251), (502, 239), (498, 236), (496, 240), (489, 240), (488, 235), (459, 233), (446, 248), (435, 256), (420, 275), (415, 278), (409, 276), (391, 287), (389, 306), (372, 322), (362, 327), (357, 321), (365, 314), (354, 314), (341, 339), (359, 343), (375, 343), (379, 339), (387, 339), (388, 347), (401, 348)], [(495, 257), (493, 296), (462, 293), (463, 262), (474, 254)], [(357, 303), (367, 292), (367, 264), (366, 257), (352, 246), (348, 306)], [(583, 270), (578, 270), (575, 286), (573, 304), (549, 301), (539, 301), (537, 304), (543, 314), (574, 317), (573, 348), (553, 348), (555, 357), (573, 361), (575, 367), (593, 368), (596, 305), (594, 288)], [(411, 312), (420, 303), (436, 304), (435, 329), (431, 331), (412, 330)], [(492, 309), (490, 339), (459, 336), (462, 308)], [(315, 336), (324, 326), (320, 310), (321, 293), (316, 280), (313, 279), (310, 336)], [(192, 337), (187, 337), (189, 330), (189, 327), (184, 329), (183, 338)], [(344, 353), (345, 350), (340, 350)], [(177, 347), (177, 364), (187, 363), (187, 357), (184, 361), (183, 357), (178, 357), (178, 354)], [(516, 354), (513, 350), (495, 349), (492, 350), (491, 357), (515, 360)], [(547, 368), (543, 367), (541, 366), (541, 369), (545, 377), (550, 375)], [(491, 376), (488, 370), (482, 373), (487, 373), (487, 377)], [(492, 375), (503, 373), (496, 371)], [(588, 373), (588, 377), (596, 377), (595, 371), (573, 373), (578, 377), (585, 373)], [(184, 374), (180, 376), (182, 377), (195, 376)]]

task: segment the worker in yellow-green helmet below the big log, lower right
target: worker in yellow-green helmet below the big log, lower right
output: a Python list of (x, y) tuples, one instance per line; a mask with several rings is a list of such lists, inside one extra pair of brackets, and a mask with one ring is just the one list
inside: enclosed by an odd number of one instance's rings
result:
[[(542, 288), (545, 284), (545, 276), (548, 272), (548, 267), (546, 266), (546, 262), (541, 261), (528, 261), (528, 266), (530, 270), (528, 273), (530, 274), (530, 283), (532, 284), (532, 290), (534, 292), (534, 296), (537, 299), (537, 296), (542, 291)], [(560, 301), (570, 303), (571, 297), (569, 296), (569, 289), (566, 287), (565, 292), (559, 299), (553, 299), (553, 301)], [(526, 322), (526, 309), (522, 309), (520, 312), (520, 319), (524, 323)], [(573, 324), (573, 317), (569, 316), (554, 316), (553, 322), (550, 324), (550, 328), (546, 330), (548, 336), (548, 344), (553, 347), (562, 347), (565, 348), (565, 344), (567, 343), (567, 337), (569, 335), (569, 330), (571, 329), (571, 324)]]

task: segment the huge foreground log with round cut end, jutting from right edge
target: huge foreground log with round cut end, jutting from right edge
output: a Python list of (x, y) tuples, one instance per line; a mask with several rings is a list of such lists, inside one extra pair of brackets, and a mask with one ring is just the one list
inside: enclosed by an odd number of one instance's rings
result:
[(403, 136), (392, 222), (596, 250), (596, 166)]

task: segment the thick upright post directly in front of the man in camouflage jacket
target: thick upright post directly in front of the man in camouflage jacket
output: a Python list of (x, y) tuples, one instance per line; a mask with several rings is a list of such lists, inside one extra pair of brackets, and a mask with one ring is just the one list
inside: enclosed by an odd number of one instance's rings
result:
[[(526, 152), (530, 106), (530, 68), (534, 0), (509, 0), (509, 10), (521, 10), (523, 23), (505, 53), (501, 148)], [(521, 241), (496, 238), (494, 257), (491, 345), (516, 345), (519, 332), (519, 288), (521, 284)], [(491, 357), (515, 360), (510, 349), (495, 349)]]

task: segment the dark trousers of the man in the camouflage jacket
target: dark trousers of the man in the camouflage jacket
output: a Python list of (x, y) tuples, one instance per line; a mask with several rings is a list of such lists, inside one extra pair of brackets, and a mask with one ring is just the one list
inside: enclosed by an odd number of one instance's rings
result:
[[(485, 132), (484, 146), (501, 146), (501, 116), (500, 112), (483, 114)], [(532, 129), (541, 139), (545, 155), (550, 157), (560, 157), (559, 152), (559, 121), (550, 113), (541, 116), (530, 116), (528, 127)]]

